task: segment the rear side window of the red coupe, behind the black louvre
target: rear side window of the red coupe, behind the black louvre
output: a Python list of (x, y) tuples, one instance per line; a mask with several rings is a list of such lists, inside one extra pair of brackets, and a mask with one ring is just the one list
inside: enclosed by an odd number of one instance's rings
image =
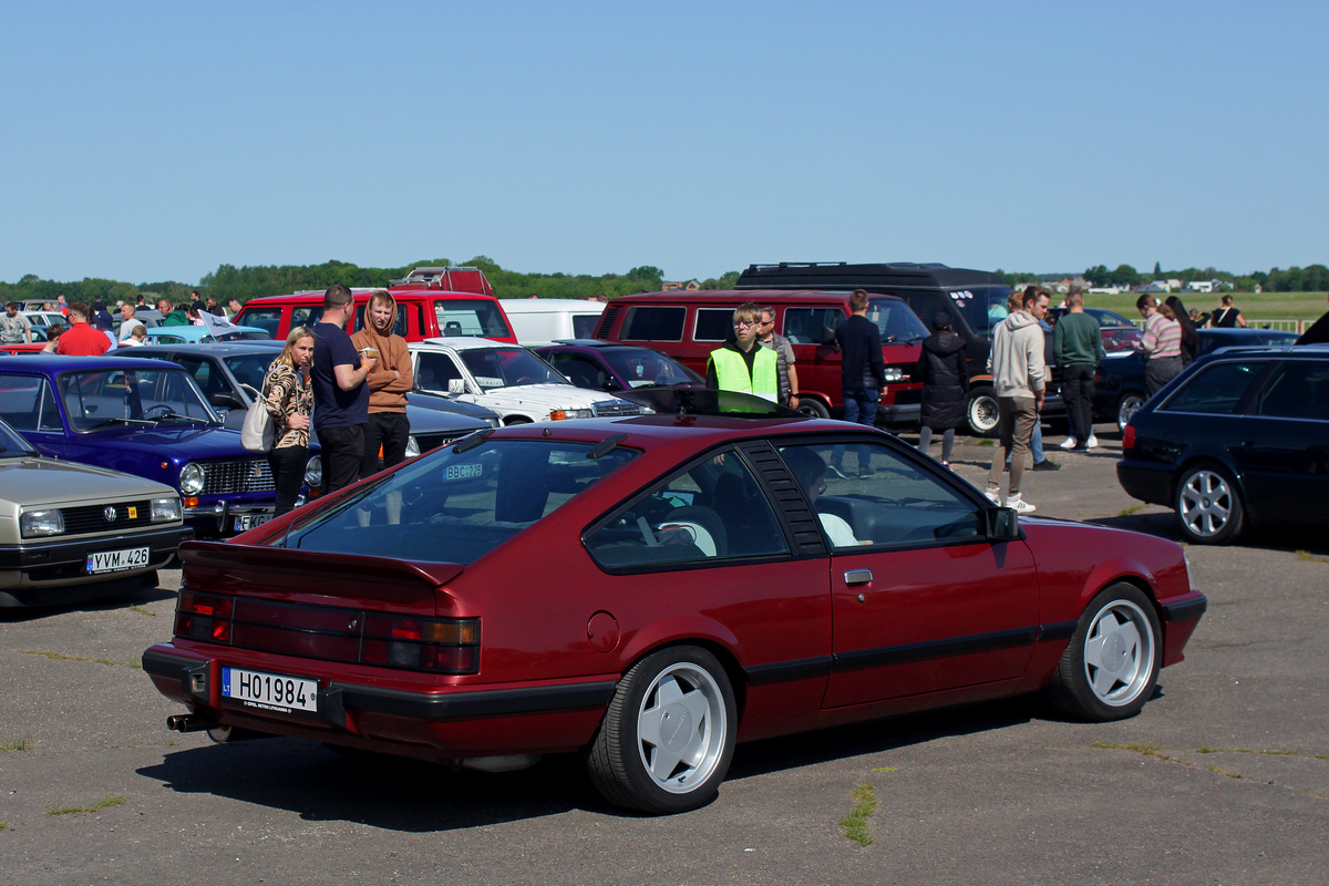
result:
[(586, 550), (606, 569), (631, 570), (789, 553), (771, 502), (732, 450), (629, 501), (586, 537)]

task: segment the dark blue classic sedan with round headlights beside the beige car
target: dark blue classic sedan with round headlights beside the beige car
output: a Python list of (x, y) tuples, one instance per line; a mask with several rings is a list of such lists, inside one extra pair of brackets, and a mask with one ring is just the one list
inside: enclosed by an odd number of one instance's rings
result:
[[(110, 468), (181, 494), (199, 534), (272, 515), (267, 458), (241, 445), (182, 368), (132, 357), (0, 357), (0, 418), (43, 456)], [(311, 460), (316, 470), (318, 458)], [(318, 484), (318, 477), (310, 477)]]

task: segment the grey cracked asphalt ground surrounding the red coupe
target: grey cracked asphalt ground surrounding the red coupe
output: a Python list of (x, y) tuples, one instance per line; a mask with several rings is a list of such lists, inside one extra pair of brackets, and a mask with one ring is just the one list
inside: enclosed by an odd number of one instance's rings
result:
[[(1176, 539), (1115, 480), (1119, 434), (1026, 474), (1038, 515)], [(906, 440), (914, 440), (906, 436)], [(982, 485), (991, 448), (957, 441)], [(933, 454), (940, 453), (940, 442)], [(1084, 551), (1092, 557), (1094, 551)], [(1329, 543), (1188, 549), (1209, 610), (1138, 717), (1037, 699), (740, 745), (719, 797), (649, 818), (575, 758), (505, 773), (167, 732), (138, 667), (179, 571), (0, 612), (0, 883), (1160, 883), (1329, 881)], [(840, 821), (869, 785), (870, 845)]]

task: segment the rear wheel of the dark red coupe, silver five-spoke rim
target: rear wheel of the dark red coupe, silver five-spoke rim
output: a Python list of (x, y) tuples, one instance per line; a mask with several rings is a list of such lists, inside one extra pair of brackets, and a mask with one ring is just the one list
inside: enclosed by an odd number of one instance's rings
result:
[(699, 647), (654, 652), (623, 675), (586, 749), (586, 769), (611, 804), (687, 812), (719, 790), (734, 756), (734, 689)]

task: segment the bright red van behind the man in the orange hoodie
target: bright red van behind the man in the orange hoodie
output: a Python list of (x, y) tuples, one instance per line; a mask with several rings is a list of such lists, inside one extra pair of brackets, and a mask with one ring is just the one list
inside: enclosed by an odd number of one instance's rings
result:
[[(351, 290), (355, 316), (347, 332), (364, 325), (364, 306), (383, 287)], [(437, 336), (474, 336), (517, 344), (502, 304), (481, 292), (451, 292), (427, 288), (419, 283), (387, 287), (397, 300), (397, 324), (393, 332), (407, 341), (424, 341)], [(253, 299), (241, 308), (235, 323), (267, 329), (278, 341), (286, 339), (292, 325), (312, 325), (323, 316), (323, 290), (270, 295)]]

